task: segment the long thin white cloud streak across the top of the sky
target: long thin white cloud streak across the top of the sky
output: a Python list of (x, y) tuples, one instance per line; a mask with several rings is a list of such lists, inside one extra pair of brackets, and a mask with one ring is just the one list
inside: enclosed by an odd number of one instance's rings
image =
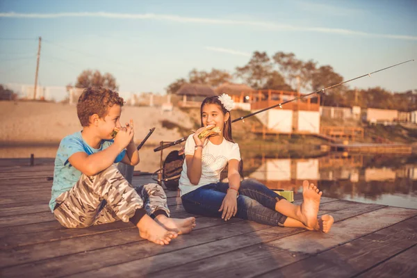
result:
[(392, 34), (377, 34), (366, 33), (361, 31), (354, 31), (341, 28), (320, 28), (320, 27), (306, 27), (294, 26), (290, 24), (279, 24), (275, 22), (261, 22), (261, 21), (245, 21), (232, 19), (212, 19), (204, 17), (182, 17), (179, 15), (156, 15), (154, 13), (145, 14), (129, 14), (129, 13), (0, 13), (0, 17), (12, 18), (34, 18), (34, 19), (54, 19), (60, 17), (104, 17), (112, 19), (154, 19), (168, 22), (181, 23), (198, 23), (198, 24), (212, 24), (212, 25), (234, 25), (234, 26), (254, 26), (267, 28), (272, 31), (304, 31), (304, 32), (318, 32), (318, 33), (333, 33), (338, 35), (360, 35), (363, 37), (373, 38), (388, 38), (395, 40), (417, 40), (414, 35), (392, 35)]

